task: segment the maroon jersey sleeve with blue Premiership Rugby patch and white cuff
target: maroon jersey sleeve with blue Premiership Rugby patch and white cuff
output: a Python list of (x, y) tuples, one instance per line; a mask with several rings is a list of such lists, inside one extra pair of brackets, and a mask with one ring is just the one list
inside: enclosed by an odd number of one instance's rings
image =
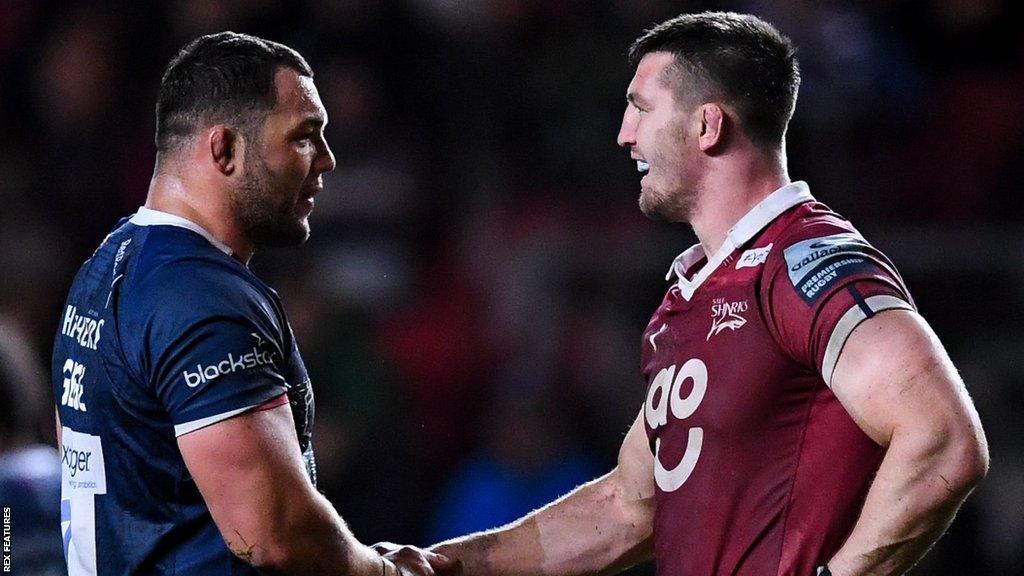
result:
[(913, 301), (889, 259), (855, 232), (818, 228), (780, 244), (761, 290), (768, 328), (831, 385), (853, 329), (886, 310), (912, 311)]

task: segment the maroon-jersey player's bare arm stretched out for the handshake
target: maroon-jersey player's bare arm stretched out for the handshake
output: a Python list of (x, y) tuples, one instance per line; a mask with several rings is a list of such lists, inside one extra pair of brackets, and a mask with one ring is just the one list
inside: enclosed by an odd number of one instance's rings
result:
[(473, 576), (612, 574), (652, 553), (653, 456), (643, 413), (609, 474), (508, 526), (434, 546)]

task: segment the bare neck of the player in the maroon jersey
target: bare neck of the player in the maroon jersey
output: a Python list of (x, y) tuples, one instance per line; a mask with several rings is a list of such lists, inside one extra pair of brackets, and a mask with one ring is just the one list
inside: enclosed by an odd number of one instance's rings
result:
[(748, 157), (745, 161), (724, 156), (714, 160), (697, 189), (697, 202), (690, 224), (705, 253), (711, 257), (732, 229), (752, 208), (779, 188), (790, 183), (784, 155)]

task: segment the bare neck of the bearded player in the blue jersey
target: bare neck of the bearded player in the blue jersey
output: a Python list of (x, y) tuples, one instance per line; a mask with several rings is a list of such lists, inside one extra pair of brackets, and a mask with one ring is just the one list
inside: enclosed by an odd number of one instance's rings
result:
[(238, 230), (227, 194), (178, 173), (157, 171), (150, 180), (145, 207), (191, 220), (231, 249), (231, 256), (249, 263), (255, 247)]

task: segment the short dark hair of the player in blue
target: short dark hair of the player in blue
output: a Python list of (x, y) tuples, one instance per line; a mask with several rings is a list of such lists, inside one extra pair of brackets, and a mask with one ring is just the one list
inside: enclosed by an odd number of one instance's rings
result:
[(278, 42), (220, 32), (193, 40), (167, 65), (157, 97), (157, 152), (180, 149), (205, 123), (223, 122), (253, 137), (253, 126), (278, 104), (278, 69), (313, 72)]

